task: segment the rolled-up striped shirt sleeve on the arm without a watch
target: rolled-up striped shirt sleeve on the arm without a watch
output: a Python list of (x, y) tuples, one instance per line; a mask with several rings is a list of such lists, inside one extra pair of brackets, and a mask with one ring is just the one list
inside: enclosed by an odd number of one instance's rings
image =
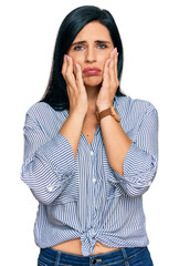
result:
[(73, 150), (66, 137), (60, 133), (48, 137), (27, 114), (21, 178), (35, 198), (45, 205), (52, 203), (72, 178), (74, 165)]

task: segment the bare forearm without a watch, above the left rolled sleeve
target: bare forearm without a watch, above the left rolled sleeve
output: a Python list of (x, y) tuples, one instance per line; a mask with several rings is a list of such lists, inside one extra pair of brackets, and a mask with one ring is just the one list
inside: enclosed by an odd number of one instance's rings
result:
[(78, 142), (81, 137), (82, 126), (83, 126), (84, 116), (78, 115), (77, 113), (72, 113), (69, 115), (64, 124), (62, 125), (59, 133), (64, 135), (67, 141), (71, 143), (74, 157), (77, 154)]

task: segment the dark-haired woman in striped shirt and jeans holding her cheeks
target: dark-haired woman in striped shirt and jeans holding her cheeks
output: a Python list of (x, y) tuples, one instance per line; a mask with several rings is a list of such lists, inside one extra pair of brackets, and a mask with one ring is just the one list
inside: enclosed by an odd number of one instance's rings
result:
[(39, 201), (38, 265), (151, 266), (143, 194), (157, 171), (152, 104), (119, 89), (123, 45), (106, 10), (73, 10), (28, 112), (21, 178)]

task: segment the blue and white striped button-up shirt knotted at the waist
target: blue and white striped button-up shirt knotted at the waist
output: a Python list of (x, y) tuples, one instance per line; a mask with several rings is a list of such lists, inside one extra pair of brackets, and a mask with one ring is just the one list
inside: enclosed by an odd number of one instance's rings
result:
[(87, 256), (96, 242), (108, 247), (148, 245), (143, 194), (157, 171), (158, 114), (149, 102), (129, 96), (115, 96), (114, 106), (133, 140), (124, 176), (108, 163), (99, 125), (92, 146), (81, 134), (74, 158), (70, 142), (59, 133), (67, 110), (57, 112), (40, 102), (27, 112), (21, 178), (39, 201), (34, 224), (39, 247), (81, 238)]

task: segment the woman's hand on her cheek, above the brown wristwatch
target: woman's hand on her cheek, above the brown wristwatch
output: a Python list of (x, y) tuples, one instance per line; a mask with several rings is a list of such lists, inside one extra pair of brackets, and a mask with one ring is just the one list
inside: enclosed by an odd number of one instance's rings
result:
[(117, 49), (114, 49), (104, 66), (104, 79), (96, 100), (96, 108), (98, 112), (102, 112), (113, 105), (113, 100), (119, 85), (117, 76)]

